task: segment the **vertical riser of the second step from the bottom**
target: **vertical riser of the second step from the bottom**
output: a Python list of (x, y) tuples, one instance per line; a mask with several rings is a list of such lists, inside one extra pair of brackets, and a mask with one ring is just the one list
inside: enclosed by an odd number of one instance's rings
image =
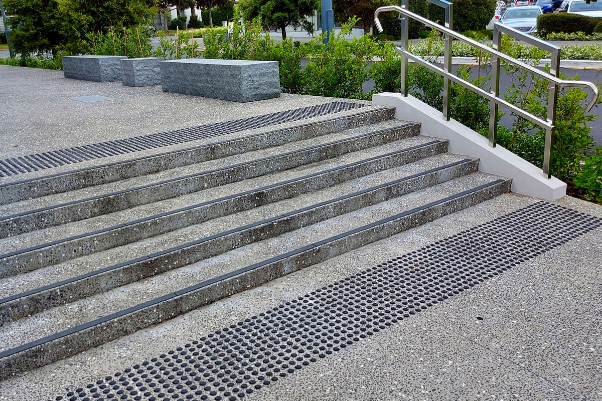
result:
[(149, 256), (150, 259), (140, 260), (122, 267), (87, 277), (84, 280), (73, 281), (55, 289), (45, 290), (23, 298), (14, 299), (0, 305), (0, 322), (19, 319), (28, 314), (73, 302), (102, 290), (113, 289), (133, 283), (141, 278), (160, 274), (170, 269), (190, 265), (202, 259), (217, 256), (222, 253), (248, 245), (259, 240), (279, 236), (297, 228), (307, 227), (344, 213), (353, 212), (380, 203), (391, 198), (399, 197), (418, 189), (427, 188), (447, 180), (473, 173), (478, 168), (477, 161), (434, 171), (424, 176), (404, 180), (393, 185), (383, 186), (365, 194), (343, 198), (330, 204), (324, 204), (291, 216), (279, 216), (265, 224), (244, 228), (234, 233), (208, 239), (205, 242), (178, 249), (171, 253)]

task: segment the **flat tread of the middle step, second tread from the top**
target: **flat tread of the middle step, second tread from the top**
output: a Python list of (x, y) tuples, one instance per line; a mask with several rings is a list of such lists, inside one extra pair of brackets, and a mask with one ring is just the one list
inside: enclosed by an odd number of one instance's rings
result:
[(158, 213), (169, 212), (171, 210), (177, 210), (193, 204), (199, 204), (205, 201), (215, 200), (220, 197), (261, 188), (265, 185), (295, 179), (297, 177), (305, 176), (306, 174), (317, 173), (329, 168), (341, 167), (343, 165), (362, 161), (374, 156), (386, 155), (387, 153), (402, 150), (404, 148), (423, 145), (435, 139), (436, 138), (429, 136), (412, 136), (400, 141), (371, 147), (366, 150), (346, 153), (345, 155), (337, 156), (332, 159), (291, 168), (290, 170), (278, 171), (276, 173), (270, 173), (264, 176), (216, 186), (213, 188), (204, 189), (202, 191), (193, 192), (191, 194), (181, 195), (175, 198), (134, 206), (129, 209), (118, 210), (106, 215), (96, 216), (80, 221), (68, 222), (66, 224), (61, 224), (54, 227), (42, 228), (41, 230), (7, 237), (0, 239), (0, 255), (47, 243), (49, 240), (84, 234), (91, 231), (100, 230), (105, 227), (111, 227), (114, 225), (123, 224), (125, 222), (157, 215)]

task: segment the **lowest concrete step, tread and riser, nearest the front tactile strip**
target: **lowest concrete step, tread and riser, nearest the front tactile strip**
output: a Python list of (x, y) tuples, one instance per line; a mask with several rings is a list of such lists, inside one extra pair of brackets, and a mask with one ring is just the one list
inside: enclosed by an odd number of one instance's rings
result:
[[(17, 322), (6, 323), (2, 327), (2, 338), (7, 340), (2, 342), (9, 345), (0, 353), (0, 375), (6, 378), (16, 372), (43, 366), (232, 293), (465, 209), (509, 191), (509, 185), (510, 181), (506, 179), (472, 173), (396, 198), (385, 197), (386, 200), (373, 206), (289, 231), (276, 239), (261, 240), (218, 257), (194, 262), (187, 268), (178, 268), (102, 295), (59, 306), (25, 318), (18, 325)], [(197, 284), (190, 285), (195, 281)], [(161, 290), (157, 292), (159, 288)], [(159, 293), (163, 295), (158, 296)], [(149, 299), (152, 296), (158, 298)], [(145, 299), (149, 301), (134, 305), (134, 302)], [(90, 310), (85, 310), (82, 304), (85, 301), (92, 305)], [(102, 309), (103, 305), (107, 305), (107, 309)], [(102, 314), (105, 316), (94, 319)], [(28, 329), (20, 329), (17, 334), (14, 331), (16, 326)], [(42, 331), (36, 329), (45, 326)], [(60, 331), (66, 326), (70, 328)], [(52, 328), (48, 330), (49, 327)], [(48, 332), (52, 334), (39, 338)], [(8, 340), (11, 337), (19, 339)]]

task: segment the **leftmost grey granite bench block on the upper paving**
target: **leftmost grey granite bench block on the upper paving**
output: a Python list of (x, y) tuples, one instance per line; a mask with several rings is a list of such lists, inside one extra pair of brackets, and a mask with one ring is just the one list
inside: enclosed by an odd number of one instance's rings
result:
[(84, 81), (121, 81), (121, 60), (125, 56), (66, 56), (63, 57), (65, 78)]

